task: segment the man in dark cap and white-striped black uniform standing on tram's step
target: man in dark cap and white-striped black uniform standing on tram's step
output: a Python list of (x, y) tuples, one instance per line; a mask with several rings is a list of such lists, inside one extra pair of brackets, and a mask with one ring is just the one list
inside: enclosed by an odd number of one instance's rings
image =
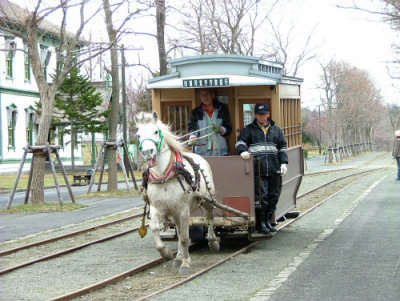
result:
[(270, 219), (278, 203), (281, 176), (287, 172), (287, 143), (270, 119), (268, 104), (256, 104), (254, 113), (256, 118), (241, 130), (235, 147), (245, 160), (254, 156), (256, 229), (270, 235), (276, 232)]

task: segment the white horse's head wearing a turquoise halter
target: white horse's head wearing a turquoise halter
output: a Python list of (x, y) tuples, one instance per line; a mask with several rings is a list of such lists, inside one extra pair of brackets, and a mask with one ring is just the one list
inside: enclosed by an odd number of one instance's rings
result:
[(137, 126), (138, 149), (153, 167), (163, 144), (163, 135), (159, 126), (157, 113), (139, 113), (135, 116)]

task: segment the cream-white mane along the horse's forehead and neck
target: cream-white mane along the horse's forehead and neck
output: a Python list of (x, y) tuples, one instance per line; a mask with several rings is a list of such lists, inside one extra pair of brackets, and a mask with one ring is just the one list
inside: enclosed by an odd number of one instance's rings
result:
[(139, 128), (141, 125), (148, 123), (157, 124), (157, 127), (161, 130), (164, 137), (164, 142), (174, 151), (182, 153), (184, 151), (184, 146), (179, 142), (180, 137), (172, 133), (171, 126), (163, 123), (160, 119), (155, 119), (152, 113), (139, 113), (137, 114), (139, 118), (136, 118), (136, 126)]

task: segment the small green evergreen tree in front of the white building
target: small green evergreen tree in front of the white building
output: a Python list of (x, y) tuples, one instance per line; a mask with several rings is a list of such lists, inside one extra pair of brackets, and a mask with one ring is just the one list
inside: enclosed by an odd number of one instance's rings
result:
[(62, 119), (70, 123), (71, 135), (71, 165), (75, 167), (75, 141), (77, 133), (99, 133), (107, 130), (104, 118), (108, 117), (109, 110), (103, 110), (101, 93), (91, 84), (87, 76), (79, 74), (78, 68), (73, 68), (58, 89), (55, 97), (55, 107), (61, 111)]

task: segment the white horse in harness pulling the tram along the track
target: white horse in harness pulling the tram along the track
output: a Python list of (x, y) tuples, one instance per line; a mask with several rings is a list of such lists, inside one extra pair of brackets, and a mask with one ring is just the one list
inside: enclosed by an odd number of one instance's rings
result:
[(158, 119), (157, 113), (139, 113), (135, 121), (138, 147), (148, 163), (142, 185), (147, 188), (150, 204), (150, 230), (161, 256), (171, 260), (172, 253), (161, 240), (160, 230), (167, 218), (173, 221), (178, 235), (174, 265), (179, 267), (179, 274), (187, 275), (190, 271), (190, 212), (199, 205), (206, 212), (208, 245), (212, 251), (219, 250), (213, 228), (213, 206), (201, 197), (213, 198), (215, 193), (210, 166), (199, 155), (183, 153), (178, 137)]

